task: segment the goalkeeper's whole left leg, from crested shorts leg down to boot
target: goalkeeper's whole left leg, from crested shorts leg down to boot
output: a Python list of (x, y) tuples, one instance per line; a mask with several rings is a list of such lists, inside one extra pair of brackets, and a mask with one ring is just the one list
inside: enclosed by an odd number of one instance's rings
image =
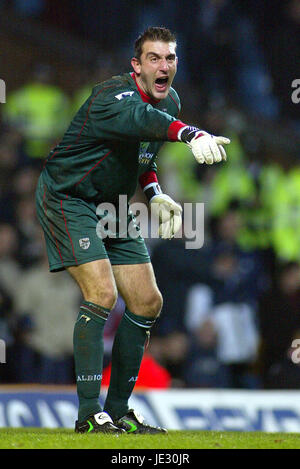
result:
[(41, 175), (36, 207), (45, 234), (50, 270), (66, 269), (84, 298), (73, 335), (79, 398), (75, 431), (120, 433), (111, 418), (100, 412), (99, 405), (103, 329), (116, 301), (117, 289), (104, 243), (97, 236), (95, 205), (76, 197), (53, 194)]

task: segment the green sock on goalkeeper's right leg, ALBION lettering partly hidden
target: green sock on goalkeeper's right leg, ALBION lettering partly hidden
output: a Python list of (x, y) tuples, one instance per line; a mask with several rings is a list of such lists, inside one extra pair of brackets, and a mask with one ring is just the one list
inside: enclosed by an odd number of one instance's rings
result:
[(113, 349), (111, 377), (104, 410), (113, 420), (127, 414), (128, 399), (137, 380), (144, 346), (155, 318), (131, 313), (127, 308), (119, 324)]

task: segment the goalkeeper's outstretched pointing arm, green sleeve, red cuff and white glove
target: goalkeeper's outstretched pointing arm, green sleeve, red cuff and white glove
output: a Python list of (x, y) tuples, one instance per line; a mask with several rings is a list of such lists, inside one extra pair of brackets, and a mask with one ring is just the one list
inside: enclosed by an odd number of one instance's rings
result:
[[(122, 91), (122, 90), (121, 90)], [(89, 105), (90, 131), (98, 139), (184, 142), (198, 163), (212, 164), (226, 159), (223, 144), (215, 137), (141, 101), (137, 91), (100, 89)]]

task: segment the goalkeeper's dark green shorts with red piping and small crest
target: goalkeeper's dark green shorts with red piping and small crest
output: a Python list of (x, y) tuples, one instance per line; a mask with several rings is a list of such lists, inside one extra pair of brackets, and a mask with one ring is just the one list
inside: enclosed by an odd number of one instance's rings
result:
[[(112, 265), (150, 262), (145, 241), (128, 208), (125, 215), (133, 236), (127, 230), (120, 235), (117, 212), (115, 223), (107, 225), (107, 212), (96, 214), (94, 203), (50, 192), (42, 175), (36, 190), (36, 207), (51, 272), (98, 259), (109, 259)], [(116, 226), (115, 231), (112, 226)]]

